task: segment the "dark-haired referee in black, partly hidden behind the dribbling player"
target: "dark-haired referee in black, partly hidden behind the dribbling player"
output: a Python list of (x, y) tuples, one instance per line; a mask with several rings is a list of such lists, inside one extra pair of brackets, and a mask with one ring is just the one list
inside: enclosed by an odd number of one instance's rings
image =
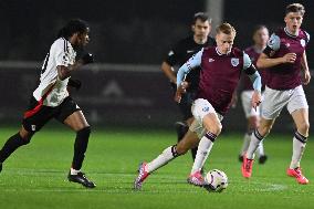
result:
[[(208, 14), (203, 12), (196, 13), (193, 15), (191, 30), (193, 34), (177, 42), (161, 64), (161, 70), (169, 79), (175, 92), (177, 90), (177, 79), (174, 66), (181, 66), (202, 48), (214, 45), (214, 39), (209, 36), (211, 31), (211, 19)], [(184, 122), (176, 123), (178, 142), (184, 138), (193, 119), (191, 105), (198, 88), (199, 73), (200, 67), (187, 75), (186, 81), (189, 83), (189, 87), (182, 96), (181, 102), (178, 104), (184, 119)], [(191, 148), (192, 159), (195, 159), (197, 147)]]

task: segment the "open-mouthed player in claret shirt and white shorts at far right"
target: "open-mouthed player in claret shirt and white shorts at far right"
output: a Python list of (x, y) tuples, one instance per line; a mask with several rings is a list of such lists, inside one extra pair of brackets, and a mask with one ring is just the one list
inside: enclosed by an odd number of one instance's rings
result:
[[(261, 123), (251, 136), (241, 168), (245, 178), (252, 175), (253, 153), (270, 133), (282, 108), (286, 106), (296, 126), (292, 160), (286, 174), (294, 177), (299, 184), (308, 184), (300, 167), (310, 128), (308, 105), (302, 87), (302, 84), (306, 85), (311, 80), (305, 53), (310, 35), (301, 29), (304, 13), (304, 7), (300, 3), (287, 6), (284, 17), (285, 28), (279, 29), (271, 35), (266, 49), (258, 60), (258, 67), (269, 69), (269, 77)], [(300, 75), (301, 70), (302, 76)]]

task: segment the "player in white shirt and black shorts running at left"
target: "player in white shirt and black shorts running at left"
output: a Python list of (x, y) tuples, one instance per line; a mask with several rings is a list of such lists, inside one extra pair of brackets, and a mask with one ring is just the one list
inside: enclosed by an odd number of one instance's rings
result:
[(76, 50), (88, 42), (90, 28), (86, 22), (75, 19), (67, 22), (59, 32), (45, 56), (41, 69), (40, 84), (33, 92), (28, 111), (24, 113), (21, 129), (11, 136), (0, 150), (0, 171), (3, 161), (20, 146), (30, 143), (32, 136), (50, 119), (55, 118), (76, 132), (74, 157), (69, 180), (94, 188), (81, 167), (85, 157), (91, 128), (77, 104), (66, 90), (72, 72), (93, 62), (92, 54), (75, 61)]

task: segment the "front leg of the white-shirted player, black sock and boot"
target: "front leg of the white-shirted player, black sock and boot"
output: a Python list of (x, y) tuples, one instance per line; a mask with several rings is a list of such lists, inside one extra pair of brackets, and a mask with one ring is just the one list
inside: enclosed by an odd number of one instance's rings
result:
[(74, 157), (67, 179), (73, 182), (78, 182), (84, 187), (94, 188), (96, 185), (91, 181), (84, 173), (81, 171), (91, 134), (90, 125), (86, 122), (82, 111), (76, 111), (71, 114), (69, 117), (66, 117), (64, 124), (76, 132), (76, 138), (74, 143)]

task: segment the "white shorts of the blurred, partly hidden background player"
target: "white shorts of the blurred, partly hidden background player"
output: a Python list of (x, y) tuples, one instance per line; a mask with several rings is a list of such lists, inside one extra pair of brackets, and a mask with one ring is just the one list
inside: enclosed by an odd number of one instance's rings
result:
[(242, 107), (245, 114), (245, 117), (253, 117), (253, 116), (260, 116), (260, 106), (257, 107), (257, 111), (252, 107), (252, 95), (253, 95), (254, 91), (252, 90), (248, 90), (248, 91), (243, 91), (241, 93), (241, 101), (242, 101)]

